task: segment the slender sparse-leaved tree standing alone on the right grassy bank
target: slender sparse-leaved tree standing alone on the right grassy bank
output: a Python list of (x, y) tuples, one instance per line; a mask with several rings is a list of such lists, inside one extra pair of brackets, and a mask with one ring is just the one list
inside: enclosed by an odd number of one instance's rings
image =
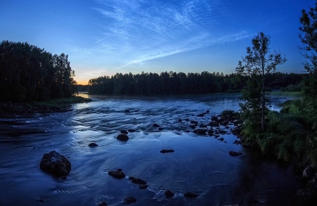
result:
[(266, 77), (277, 72), (277, 66), (282, 65), (287, 60), (285, 55), (273, 50), (269, 45), (271, 37), (260, 32), (252, 39), (252, 47), (247, 47), (247, 56), (239, 61), (235, 72), (238, 76), (248, 77), (246, 87), (242, 92), (240, 105), (242, 111), (249, 110), (252, 115), (258, 115), (257, 110), (261, 110), (261, 130), (265, 130), (266, 105), (268, 104), (268, 86), (274, 82), (266, 83)]

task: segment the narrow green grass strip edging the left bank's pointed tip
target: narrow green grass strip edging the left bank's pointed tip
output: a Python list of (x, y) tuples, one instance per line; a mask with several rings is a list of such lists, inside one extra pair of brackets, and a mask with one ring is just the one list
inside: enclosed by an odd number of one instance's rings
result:
[(69, 98), (56, 98), (48, 101), (39, 101), (36, 105), (45, 105), (45, 106), (64, 106), (70, 105), (73, 103), (88, 103), (92, 100), (90, 98), (83, 98), (81, 96), (70, 96)]

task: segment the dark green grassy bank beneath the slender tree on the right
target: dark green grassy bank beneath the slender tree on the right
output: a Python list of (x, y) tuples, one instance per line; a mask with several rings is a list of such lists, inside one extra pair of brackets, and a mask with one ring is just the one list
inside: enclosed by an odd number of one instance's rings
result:
[(264, 155), (293, 161), (298, 167), (317, 165), (317, 139), (314, 120), (304, 115), (301, 99), (282, 104), (280, 112), (266, 115), (266, 131), (259, 123), (245, 121), (242, 126), (244, 146), (258, 147)]

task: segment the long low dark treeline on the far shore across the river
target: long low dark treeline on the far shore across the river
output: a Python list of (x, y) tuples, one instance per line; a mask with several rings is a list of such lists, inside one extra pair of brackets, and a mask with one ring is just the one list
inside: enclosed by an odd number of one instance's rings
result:
[[(279, 72), (266, 77), (266, 81), (275, 82), (271, 85), (272, 89), (280, 89), (289, 84), (299, 84), (303, 77), (304, 74)], [(151, 72), (132, 75), (130, 72), (90, 79), (88, 85), (80, 86), (79, 90), (107, 95), (210, 94), (240, 91), (246, 78), (238, 78), (236, 74), (224, 75), (222, 72), (161, 72), (160, 75)]]

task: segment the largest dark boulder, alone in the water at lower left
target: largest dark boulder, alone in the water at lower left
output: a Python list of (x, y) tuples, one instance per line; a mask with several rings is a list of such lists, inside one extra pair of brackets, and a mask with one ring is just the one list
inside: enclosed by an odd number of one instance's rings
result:
[(66, 157), (53, 150), (43, 155), (39, 168), (57, 176), (65, 176), (69, 174), (72, 165)]

